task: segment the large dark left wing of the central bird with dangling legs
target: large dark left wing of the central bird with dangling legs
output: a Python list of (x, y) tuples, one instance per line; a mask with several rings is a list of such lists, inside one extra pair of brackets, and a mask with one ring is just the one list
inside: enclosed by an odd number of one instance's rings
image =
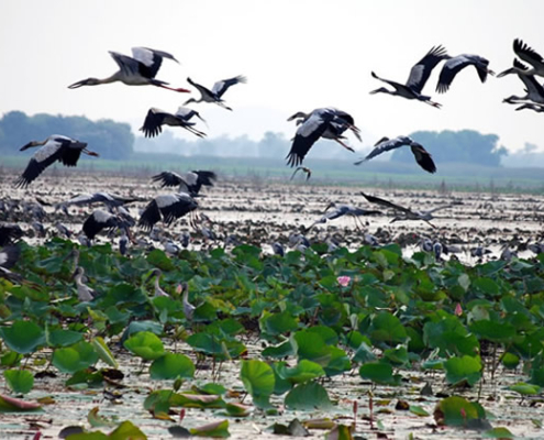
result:
[(312, 145), (321, 138), (333, 120), (334, 113), (327, 111), (313, 111), (298, 129), (289, 154), (287, 164), (298, 166), (302, 164), (304, 156)]

